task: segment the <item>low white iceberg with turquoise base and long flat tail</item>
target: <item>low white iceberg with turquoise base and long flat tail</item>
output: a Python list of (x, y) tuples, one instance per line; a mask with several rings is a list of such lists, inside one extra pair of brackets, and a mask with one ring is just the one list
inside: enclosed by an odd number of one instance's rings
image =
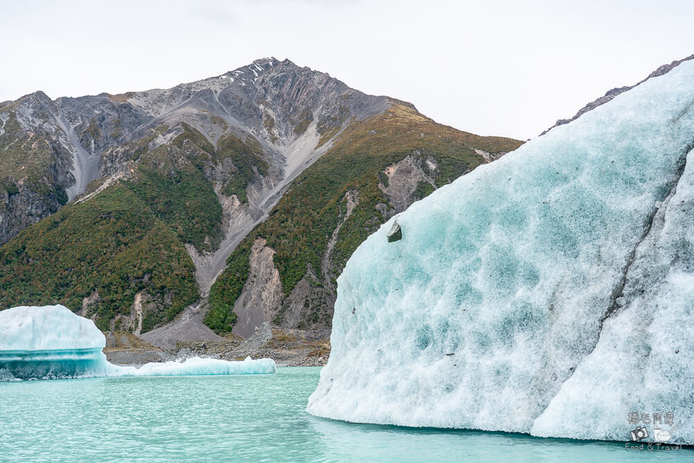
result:
[(62, 305), (0, 311), (0, 381), (110, 376), (183, 376), (275, 373), (271, 359), (243, 362), (194, 357), (142, 367), (110, 364), (103, 333)]

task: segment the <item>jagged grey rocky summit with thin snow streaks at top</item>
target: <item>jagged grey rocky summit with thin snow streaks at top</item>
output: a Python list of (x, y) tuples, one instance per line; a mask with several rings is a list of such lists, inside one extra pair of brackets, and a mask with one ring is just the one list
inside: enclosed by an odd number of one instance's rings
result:
[(315, 138), (315, 146), (351, 119), (378, 115), (391, 105), (386, 96), (366, 95), (328, 74), (273, 57), (170, 89), (103, 94), (101, 100), (112, 108), (131, 108), (130, 119), (139, 124), (121, 125), (135, 138), (161, 124), (174, 127), (185, 122), (212, 144), (231, 131), (252, 134), (270, 149), (289, 146), (307, 133)]

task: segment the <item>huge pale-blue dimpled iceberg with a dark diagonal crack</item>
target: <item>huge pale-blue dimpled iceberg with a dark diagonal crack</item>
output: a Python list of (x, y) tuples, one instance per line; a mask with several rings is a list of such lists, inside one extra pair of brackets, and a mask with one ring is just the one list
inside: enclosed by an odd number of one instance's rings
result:
[(618, 440), (672, 412), (694, 444), (693, 147), (685, 62), (414, 203), (338, 278), (307, 410)]

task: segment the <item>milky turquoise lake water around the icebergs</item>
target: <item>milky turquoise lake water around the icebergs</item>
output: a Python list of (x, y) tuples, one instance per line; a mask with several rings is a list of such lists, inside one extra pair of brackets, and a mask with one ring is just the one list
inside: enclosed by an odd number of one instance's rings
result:
[(304, 411), (319, 372), (3, 382), (0, 461), (694, 462), (688, 449), (320, 419)]

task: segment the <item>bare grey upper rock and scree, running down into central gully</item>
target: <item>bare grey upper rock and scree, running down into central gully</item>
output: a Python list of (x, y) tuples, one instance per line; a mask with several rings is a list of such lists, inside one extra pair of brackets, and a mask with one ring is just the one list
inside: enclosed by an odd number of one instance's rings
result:
[[(287, 183), (319, 158), (350, 121), (379, 114), (389, 108), (389, 101), (289, 60), (264, 58), (166, 90), (55, 101), (35, 92), (1, 103), (0, 151), (11, 145), (15, 155), (0, 158), (0, 244), (76, 199), (92, 180), (128, 172), (133, 145), (164, 124), (166, 130), (149, 142), (149, 149), (171, 143), (180, 124), (197, 129), (215, 146), (226, 133), (242, 140), (251, 136), (260, 143), (271, 174), (253, 185), (242, 213), (246, 219), (226, 217), (244, 222), (242, 229), (226, 226), (227, 238), (242, 238), (276, 203)], [(29, 162), (35, 164), (33, 175), (24, 178), (23, 164)], [(213, 177), (225, 174), (210, 173), (210, 180), (223, 180)], [(240, 238), (226, 239), (219, 255), (196, 260), (203, 292)]]

